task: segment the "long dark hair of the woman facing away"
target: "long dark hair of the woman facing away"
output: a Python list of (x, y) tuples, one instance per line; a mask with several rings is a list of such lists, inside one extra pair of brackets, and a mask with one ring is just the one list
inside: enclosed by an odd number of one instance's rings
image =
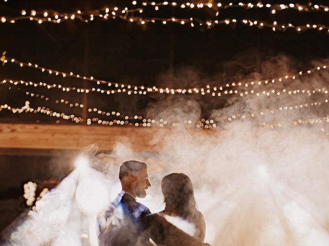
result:
[(198, 215), (191, 179), (184, 173), (172, 173), (162, 178), (165, 211), (175, 211), (182, 218), (192, 219)]

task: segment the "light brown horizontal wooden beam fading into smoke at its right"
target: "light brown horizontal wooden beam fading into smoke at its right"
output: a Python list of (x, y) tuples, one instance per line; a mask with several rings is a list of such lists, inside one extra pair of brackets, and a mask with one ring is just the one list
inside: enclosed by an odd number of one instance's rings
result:
[(81, 150), (97, 144), (99, 151), (112, 151), (117, 141), (129, 141), (134, 151), (156, 151), (150, 140), (158, 131), (170, 129), (0, 124), (0, 149)]

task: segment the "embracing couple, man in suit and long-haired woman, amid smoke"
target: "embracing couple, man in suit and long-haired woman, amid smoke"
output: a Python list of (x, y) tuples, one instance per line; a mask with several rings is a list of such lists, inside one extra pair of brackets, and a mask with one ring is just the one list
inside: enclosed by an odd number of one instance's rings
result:
[[(151, 186), (144, 162), (123, 162), (119, 179), (122, 191), (98, 216), (100, 246), (209, 245), (203, 242), (206, 224), (196, 208), (192, 182), (187, 175), (172, 173), (162, 179), (166, 207), (157, 214), (152, 214), (136, 201), (138, 197), (145, 197), (146, 190)], [(166, 220), (166, 215), (178, 216), (193, 224), (194, 235), (176, 228)]]

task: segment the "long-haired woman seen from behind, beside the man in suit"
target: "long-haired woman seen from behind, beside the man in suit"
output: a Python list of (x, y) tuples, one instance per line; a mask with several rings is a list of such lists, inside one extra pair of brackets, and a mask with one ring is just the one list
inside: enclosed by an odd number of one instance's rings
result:
[(165, 210), (159, 214), (180, 217), (194, 226), (192, 233), (199, 241), (204, 241), (206, 223), (204, 216), (197, 210), (191, 179), (183, 173), (172, 173), (163, 177), (161, 182)]

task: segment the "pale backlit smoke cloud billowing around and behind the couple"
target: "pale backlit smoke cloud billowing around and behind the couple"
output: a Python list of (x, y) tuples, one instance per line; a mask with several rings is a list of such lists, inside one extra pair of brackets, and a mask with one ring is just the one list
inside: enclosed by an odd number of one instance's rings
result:
[[(264, 61), (261, 73), (248, 74), (243, 70), (249, 68), (244, 68), (241, 63), (239, 66), (244, 69), (234, 70), (230, 64), (233, 67), (239, 65), (236, 62), (228, 63), (226, 76), (230, 75), (229, 71), (241, 71), (241, 74), (235, 72), (232, 75), (241, 81), (258, 81), (299, 72), (294, 70), (298, 65), (294, 66), (295, 62), (284, 56)], [(318, 64), (310, 63), (309, 66), (316, 67)], [(326, 64), (326, 61), (321, 64)], [(195, 72), (188, 74), (194, 85), (216, 84), (210, 78), (200, 81), (200, 76)], [(165, 79), (163, 76), (160, 81)], [(85, 220), (77, 211), (83, 211), (87, 224), (95, 219), (96, 212), (94, 209), (88, 210), (88, 205), (81, 209), (81, 204), (80, 207), (77, 204), (77, 183), (87, 179), (90, 185), (97, 181), (93, 185), (95, 189), (85, 192), (83, 197), (87, 198), (88, 194), (97, 190), (93, 199), (103, 197), (100, 201), (105, 206), (120, 191), (119, 166), (130, 159), (148, 164), (152, 187), (141, 202), (151, 212), (159, 212), (164, 207), (160, 188), (163, 176), (182, 172), (191, 178), (198, 209), (206, 220), (205, 241), (212, 245), (329, 245), (329, 142), (327, 122), (323, 118), (327, 117), (328, 112), (328, 103), (325, 102), (328, 96), (323, 89), (328, 77), (326, 70), (319, 70), (300, 78), (263, 83), (242, 90), (261, 91), (259, 96), (255, 93), (239, 96), (240, 91), (226, 100), (207, 96), (204, 99), (208, 105), (207, 118), (222, 117), (212, 130), (190, 129), (184, 124), (187, 119), (197, 121), (205, 117), (206, 106), (200, 97), (168, 97), (167, 100), (153, 103), (148, 109), (148, 118), (168, 119), (180, 124), (180, 127), (171, 130), (155, 129), (152, 139), (145, 139), (156, 146), (155, 152), (134, 152), (134, 136), (131, 136), (130, 139), (118, 141), (112, 153), (99, 153), (90, 163), (98, 171), (85, 172), (84, 176), (70, 174), (60, 187), (70, 187), (72, 192), (57, 188), (56, 194), (65, 196), (66, 201), (60, 208), (41, 209), (51, 210), (51, 214), (60, 211), (61, 216), (50, 220), (53, 230), (45, 233), (47, 230), (44, 230), (44, 220), (41, 219), (44, 215), (33, 212), (36, 217), (26, 219), (21, 226), (12, 229), (14, 233), (7, 234), (10, 245), (35, 245), (26, 240), (33, 236), (43, 242), (53, 240), (53, 245), (64, 245), (59, 240), (67, 235), (70, 235), (70, 244), (67, 245), (81, 245), (81, 233), (92, 233), (77, 229), (83, 227), (81, 221)], [(183, 80), (179, 77), (175, 79)], [(312, 92), (318, 88), (320, 92)], [(291, 94), (271, 92), (267, 96), (262, 93), (271, 90), (282, 92), (284, 89), (291, 91)], [(300, 92), (294, 93), (297, 90)], [(310, 93), (302, 93), (302, 90), (309, 90)], [(312, 105), (315, 102), (317, 105)], [(224, 107), (216, 109), (218, 104), (224, 104)], [(209, 105), (214, 106), (213, 110)], [(246, 117), (242, 118), (243, 115)], [(75, 181), (66, 186), (64, 183), (71, 176), (75, 177)], [(109, 195), (106, 199), (105, 194)], [(86, 203), (86, 200), (80, 202)], [(95, 207), (95, 204), (90, 203), (89, 207)], [(64, 218), (59, 220), (62, 216)], [(31, 230), (30, 224), (35, 230)], [(27, 227), (29, 231), (24, 231)], [(41, 228), (43, 233), (40, 233)], [(30, 231), (33, 233), (29, 234)]]

